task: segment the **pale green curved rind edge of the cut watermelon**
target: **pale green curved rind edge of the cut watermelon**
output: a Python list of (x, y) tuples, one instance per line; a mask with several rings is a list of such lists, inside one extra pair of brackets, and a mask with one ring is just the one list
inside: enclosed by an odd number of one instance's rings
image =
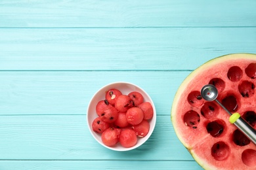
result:
[(176, 110), (179, 107), (179, 101), (181, 99), (181, 94), (184, 92), (184, 89), (186, 88), (188, 83), (194, 78), (194, 76), (200, 74), (202, 71), (204, 71), (205, 69), (207, 69), (209, 67), (213, 67), (213, 65), (216, 65), (218, 63), (222, 63), (223, 61), (227, 61), (229, 59), (232, 59), (232, 60), (233, 59), (256, 59), (256, 54), (249, 54), (249, 53), (227, 54), (227, 55), (224, 55), (224, 56), (219, 56), (217, 58), (213, 58), (213, 59), (203, 63), (202, 65), (200, 65), (200, 67), (198, 67), (194, 71), (192, 71), (192, 73), (190, 73), (182, 81), (182, 83), (179, 86), (177, 92), (175, 93), (175, 97), (173, 99), (173, 104), (172, 104), (172, 107), (171, 107), (171, 122), (173, 124), (173, 129), (175, 130), (175, 133), (176, 133), (179, 141), (181, 141), (181, 143), (187, 148), (188, 152), (190, 152), (190, 154), (192, 155), (194, 160), (196, 160), (198, 162), (198, 164), (200, 166), (202, 166), (204, 169), (214, 169), (215, 167), (213, 167), (212, 165), (209, 165), (209, 163), (207, 163), (207, 161), (200, 160), (200, 158), (198, 158), (198, 156), (196, 154), (191, 152), (190, 146), (188, 146), (188, 144), (186, 144), (182, 140), (181, 136), (179, 135), (179, 129), (176, 128), (176, 122), (174, 121), (175, 117), (177, 116)]

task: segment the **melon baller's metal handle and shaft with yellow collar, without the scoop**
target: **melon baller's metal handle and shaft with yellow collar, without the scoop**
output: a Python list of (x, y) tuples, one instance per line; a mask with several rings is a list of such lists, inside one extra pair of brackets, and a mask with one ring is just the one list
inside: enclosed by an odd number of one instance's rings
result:
[(235, 112), (234, 114), (232, 114), (230, 111), (228, 111), (222, 104), (221, 102), (219, 102), (217, 99), (215, 99), (215, 101), (221, 105), (221, 107), (223, 107), (224, 110), (226, 110), (226, 112), (228, 112), (228, 114), (230, 114), (230, 118), (229, 118), (229, 122), (231, 124), (234, 124), (236, 127), (238, 127), (238, 129), (240, 129), (240, 131), (242, 131), (242, 133), (244, 133), (244, 135), (246, 137), (248, 137), (254, 144), (256, 144), (256, 130), (250, 125), (248, 124), (244, 118), (242, 118), (240, 116), (240, 114), (238, 112)]

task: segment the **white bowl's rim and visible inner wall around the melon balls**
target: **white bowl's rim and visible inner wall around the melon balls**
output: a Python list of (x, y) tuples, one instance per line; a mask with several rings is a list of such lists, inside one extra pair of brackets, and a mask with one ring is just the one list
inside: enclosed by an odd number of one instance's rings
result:
[[(98, 134), (98, 133), (96, 133), (95, 131), (93, 131), (93, 129), (92, 129), (92, 127), (91, 127), (91, 123), (92, 123), (92, 122), (89, 121), (89, 114), (88, 114), (88, 113), (89, 113), (89, 110), (91, 109), (90, 107), (91, 107), (91, 105), (92, 105), (92, 103), (93, 103), (93, 101), (94, 101), (96, 95), (97, 95), (98, 93), (100, 93), (100, 92), (101, 92), (102, 90), (104, 90), (104, 89), (106, 89), (105, 91), (109, 90), (109, 89), (110, 89), (110, 86), (115, 86), (116, 84), (119, 84), (119, 86), (120, 86), (120, 84), (130, 85), (130, 86), (134, 86), (135, 88), (141, 90), (142, 93), (144, 93), (143, 95), (146, 95), (146, 98), (148, 98), (147, 101), (151, 103), (152, 108), (153, 108), (153, 118), (150, 119), (150, 120), (148, 120), (149, 123), (150, 123), (150, 130), (148, 131), (148, 134), (147, 134), (145, 137), (143, 137), (143, 138), (139, 138), (139, 137), (138, 137), (138, 140), (142, 140), (142, 139), (143, 139), (142, 142), (140, 142), (140, 143), (137, 142), (137, 144), (135, 144), (135, 146), (132, 146), (132, 147), (130, 147), (130, 148), (125, 148), (125, 147), (121, 146), (122, 148), (120, 149), (120, 148), (115, 147), (115, 146), (106, 146), (106, 145), (103, 144), (102, 142), (98, 141), (98, 139), (95, 137), (95, 135), (100, 135), (100, 134)], [(114, 87), (111, 87), (111, 88), (114, 88)], [(143, 97), (144, 97), (144, 96), (143, 96)], [(145, 101), (144, 101), (144, 102), (145, 102)], [(95, 109), (95, 112), (96, 112), (96, 109)], [(95, 114), (96, 114), (96, 113), (95, 113)], [(95, 115), (95, 116), (96, 116), (96, 115)], [(150, 95), (148, 95), (148, 93), (147, 93), (145, 90), (143, 90), (142, 88), (140, 88), (140, 86), (137, 86), (136, 84), (133, 84), (133, 83), (131, 83), (131, 82), (112, 82), (112, 83), (106, 84), (105, 86), (102, 86), (99, 90), (97, 90), (97, 91), (93, 94), (93, 97), (91, 97), (91, 99), (90, 99), (90, 101), (89, 101), (89, 104), (88, 104), (88, 107), (87, 107), (87, 126), (88, 126), (89, 131), (90, 131), (91, 135), (93, 136), (93, 138), (94, 138), (98, 143), (100, 143), (102, 146), (104, 146), (105, 148), (109, 148), (110, 150), (115, 150), (115, 151), (128, 151), (128, 150), (133, 150), (133, 149), (135, 149), (135, 148), (138, 148), (138, 147), (141, 146), (142, 144), (144, 144), (144, 143), (150, 138), (150, 136), (152, 135), (152, 133), (153, 133), (153, 131), (154, 131), (154, 128), (155, 128), (155, 126), (156, 126), (156, 107), (155, 107), (154, 102), (153, 102), (152, 98), (150, 97)]]

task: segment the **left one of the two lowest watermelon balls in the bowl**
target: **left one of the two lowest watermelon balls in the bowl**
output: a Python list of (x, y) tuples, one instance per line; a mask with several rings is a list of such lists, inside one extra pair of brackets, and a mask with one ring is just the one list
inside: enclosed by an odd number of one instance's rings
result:
[(120, 132), (120, 129), (114, 127), (106, 129), (101, 135), (102, 143), (106, 146), (114, 146), (119, 141)]

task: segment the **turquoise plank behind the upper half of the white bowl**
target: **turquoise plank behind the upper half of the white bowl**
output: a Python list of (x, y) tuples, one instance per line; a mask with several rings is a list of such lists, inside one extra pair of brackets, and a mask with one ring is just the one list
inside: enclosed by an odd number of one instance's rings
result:
[(131, 82), (169, 115), (190, 71), (0, 71), (0, 114), (87, 114), (91, 97), (112, 82)]

